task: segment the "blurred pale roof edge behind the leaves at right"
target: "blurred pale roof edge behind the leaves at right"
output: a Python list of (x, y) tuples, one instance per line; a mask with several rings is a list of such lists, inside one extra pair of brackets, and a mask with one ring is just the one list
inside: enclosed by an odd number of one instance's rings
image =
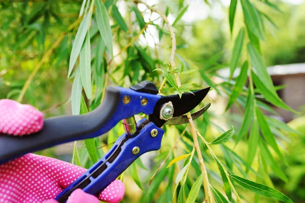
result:
[[(267, 71), (271, 76), (305, 74), (305, 63), (270, 66), (267, 68)], [(240, 68), (236, 68), (233, 74), (233, 78), (237, 77), (239, 75), (239, 72)], [(228, 78), (230, 75), (230, 68), (219, 70), (218, 73), (222, 77)]]

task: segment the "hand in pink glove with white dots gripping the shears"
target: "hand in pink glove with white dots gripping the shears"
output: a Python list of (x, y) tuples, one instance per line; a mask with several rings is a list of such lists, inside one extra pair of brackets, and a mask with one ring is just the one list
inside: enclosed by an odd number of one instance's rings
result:
[[(38, 132), (42, 127), (43, 114), (33, 106), (0, 100), (0, 134), (31, 136), (28, 134)], [(55, 203), (54, 198), (85, 170), (57, 159), (26, 154), (0, 165), (0, 203)], [(124, 184), (115, 180), (100, 193), (99, 199), (116, 203), (124, 193)], [(78, 189), (67, 202), (99, 203), (99, 199)]]

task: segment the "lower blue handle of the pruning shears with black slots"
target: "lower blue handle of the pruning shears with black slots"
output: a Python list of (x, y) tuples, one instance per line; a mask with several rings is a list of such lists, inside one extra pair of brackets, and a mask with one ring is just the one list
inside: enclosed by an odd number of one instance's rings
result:
[[(143, 119), (139, 123), (144, 121), (146, 120)], [(153, 129), (158, 130), (156, 137), (150, 135)], [(164, 131), (161, 128), (156, 127), (154, 123), (148, 123), (135, 137), (127, 138), (126, 134), (121, 135), (109, 152), (60, 193), (56, 200), (59, 203), (66, 202), (71, 193), (77, 188), (81, 188), (86, 193), (98, 195), (139, 156), (149, 151), (159, 150), (163, 134)], [(135, 147), (139, 148), (138, 154), (133, 154), (132, 152)]]

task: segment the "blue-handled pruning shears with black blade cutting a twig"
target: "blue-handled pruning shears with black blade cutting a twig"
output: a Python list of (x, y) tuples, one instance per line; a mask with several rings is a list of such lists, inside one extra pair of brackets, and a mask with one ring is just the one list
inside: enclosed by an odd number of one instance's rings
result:
[[(0, 136), (0, 164), (27, 153), (43, 150), (58, 144), (88, 139), (108, 132), (119, 121), (125, 133), (118, 137), (107, 154), (89, 168), (80, 178), (60, 193), (56, 200), (67, 201), (75, 189), (98, 195), (142, 154), (159, 150), (166, 125), (188, 122), (185, 113), (194, 109), (207, 95), (210, 88), (179, 95), (158, 95), (156, 85), (142, 81), (130, 88), (108, 86), (102, 104), (92, 112), (82, 115), (53, 117), (44, 121), (43, 129), (23, 137)], [(208, 103), (192, 118), (197, 119)], [(148, 115), (136, 123), (134, 115)]]

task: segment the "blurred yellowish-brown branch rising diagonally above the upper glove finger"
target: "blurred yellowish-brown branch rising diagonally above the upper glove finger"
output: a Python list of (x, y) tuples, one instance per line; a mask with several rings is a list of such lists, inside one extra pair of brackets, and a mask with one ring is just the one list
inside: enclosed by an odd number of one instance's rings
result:
[(28, 89), (29, 84), (31, 84), (34, 76), (36, 75), (36, 73), (38, 72), (38, 70), (41, 68), (41, 66), (45, 63), (45, 61), (48, 59), (49, 55), (53, 52), (53, 50), (60, 44), (60, 42), (62, 42), (62, 40), (64, 39), (64, 37), (66, 36), (67, 32), (71, 31), (76, 25), (78, 25), (78, 23), (80, 23), (80, 21), (82, 20), (83, 16), (79, 17), (77, 20), (75, 20), (67, 29), (66, 32), (63, 32), (62, 35), (60, 35), (57, 40), (52, 44), (52, 46), (50, 47), (50, 49), (45, 52), (42, 56), (42, 59), (40, 60), (40, 62), (37, 64), (36, 68), (33, 70), (33, 72), (31, 73), (31, 75), (29, 75), (29, 77), (27, 78), (26, 82), (23, 85), (23, 88), (21, 90), (21, 93), (18, 97), (18, 102), (21, 102), (24, 94), (26, 92), (26, 90)]

